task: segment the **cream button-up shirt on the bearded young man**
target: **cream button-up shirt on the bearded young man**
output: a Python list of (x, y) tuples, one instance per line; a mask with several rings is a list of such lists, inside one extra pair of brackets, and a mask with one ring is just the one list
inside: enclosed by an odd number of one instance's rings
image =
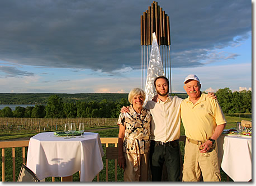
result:
[(165, 102), (148, 101), (145, 105), (152, 115), (150, 140), (174, 141), (179, 139), (182, 98), (169, 96)]

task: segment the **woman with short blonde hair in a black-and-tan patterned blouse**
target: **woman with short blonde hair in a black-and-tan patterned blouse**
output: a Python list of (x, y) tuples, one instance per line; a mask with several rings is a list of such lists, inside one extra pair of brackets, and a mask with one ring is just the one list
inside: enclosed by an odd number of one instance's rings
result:
[[(118, 165), (124, 169), (125, 182), (146, 182), (149, 168), (150, 111), (143, 108), (145, 93), (134, 88), (128, 95), (129, 112), (121, 113), (117, 125)], [(125, 140), (124, 140), (125, 138)]]

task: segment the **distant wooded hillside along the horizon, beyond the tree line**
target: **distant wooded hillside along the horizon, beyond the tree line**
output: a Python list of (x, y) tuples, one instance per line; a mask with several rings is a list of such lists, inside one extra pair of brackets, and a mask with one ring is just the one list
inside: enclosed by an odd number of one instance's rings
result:
[[(128, 94), (118, 94), (118, 93), (79, 93), (79, 94), (58, 94), (58, 93), (0, 93), (0, 104), (46, 104), (48, 98), (51, 95), (58, 95), (63, 99), (63, 102), (89, 102), (96, 101), (100, 102), (102, 99), (107, 99), (108, 101), (120, 101), (120, 99), (127, 99)], [(174, 95), (186, 98), (186, 93), (175, 93)]]

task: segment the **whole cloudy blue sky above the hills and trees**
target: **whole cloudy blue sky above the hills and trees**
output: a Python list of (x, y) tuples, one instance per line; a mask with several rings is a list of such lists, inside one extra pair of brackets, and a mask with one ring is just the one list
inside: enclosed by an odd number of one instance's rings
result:
[[(140, 16), (152, 2), (1, 0), (0, 93), (141, 88)], [(252, 90), (252, 1), (157, 2), (170, 17), (173, 93), (188, 74), (202, 91)]]

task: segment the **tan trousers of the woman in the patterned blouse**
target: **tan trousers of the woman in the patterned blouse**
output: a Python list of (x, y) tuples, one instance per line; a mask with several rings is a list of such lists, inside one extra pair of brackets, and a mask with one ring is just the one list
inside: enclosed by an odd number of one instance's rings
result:
[(149, 171), (149, 152), (140, 155), (140, 165), (138, 170), (140, 170), (140, 177), (136, 177), (136, 172), (134, 171), (134, 160), (131, 154), (124, 153), (126, 166), (124, 171), (124, 182), (146, 182), (148, 181), (148, 171)]

